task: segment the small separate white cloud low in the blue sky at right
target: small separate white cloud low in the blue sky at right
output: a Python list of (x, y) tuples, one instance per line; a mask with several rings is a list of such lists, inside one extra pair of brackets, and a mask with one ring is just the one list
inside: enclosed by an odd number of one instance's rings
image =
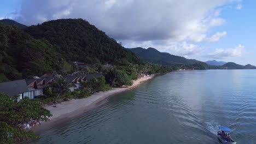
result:
[(212, 53), (208, 53), (207, 57), (209, 58), (217, 58), (217, 59), (227, 59), (232, 57), (240, 57), (245, 51), (245, 46), (238, 45), (235, 48), (229, 49), (216, 49)]

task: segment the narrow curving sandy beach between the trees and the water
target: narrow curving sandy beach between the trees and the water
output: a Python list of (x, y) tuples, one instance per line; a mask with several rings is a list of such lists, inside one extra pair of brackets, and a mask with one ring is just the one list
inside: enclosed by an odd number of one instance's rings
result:
[(36, 134), (42, 134), (44, 131), (51, 129), (56, 125), (60, 125), (63, 122), (67, 122), (69, 119), (75, 118), (82, 115), (83, 113), (96, 109), (98, 106), (104, 104), (104, 100), (111, 97), (112, 95), (135, 88), (142, 83), (152, 79), (154, 76), (155, 75), (137, 79), (133, 81), (132, 86), (129, 87), (112, 88), (109, 91), (95, 93), (88, 98), (63, 101), (61, 104), (57, 104), (57, 107), (53, 107), (52, 105), (45, 106), (44, 108), (49, 110), (53, 115), (50, 117), (51, 120), (48, 122), (42, 122), (41, 125), (33, 127), (31, 130), (33, 130)]

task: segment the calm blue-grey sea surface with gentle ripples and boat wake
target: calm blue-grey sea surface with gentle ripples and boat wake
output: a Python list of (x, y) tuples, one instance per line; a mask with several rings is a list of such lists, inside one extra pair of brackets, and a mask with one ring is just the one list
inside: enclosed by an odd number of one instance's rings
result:
[(158, 75), (32, 143), (220, 143), (220, 125), (256, 143), (256, 70)]

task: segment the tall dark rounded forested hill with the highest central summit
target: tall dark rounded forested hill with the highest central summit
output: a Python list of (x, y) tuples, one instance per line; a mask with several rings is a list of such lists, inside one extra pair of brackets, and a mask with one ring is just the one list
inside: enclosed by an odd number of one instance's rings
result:
[(132, 63), (140, 62), (135, 53), (83, 19), (48, 21), (27, 27), (26, 32), (36, 39), (48, 40), (67, 61), (113, 63), (125, 58)]

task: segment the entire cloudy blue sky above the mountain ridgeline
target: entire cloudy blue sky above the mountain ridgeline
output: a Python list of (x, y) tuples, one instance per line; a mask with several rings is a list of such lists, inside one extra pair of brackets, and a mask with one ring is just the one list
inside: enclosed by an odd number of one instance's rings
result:
[(127, 48), (256, 65), (255, 5), (253, 0), (2, 0), (0, 19), (30, 26), (82, 18)]

